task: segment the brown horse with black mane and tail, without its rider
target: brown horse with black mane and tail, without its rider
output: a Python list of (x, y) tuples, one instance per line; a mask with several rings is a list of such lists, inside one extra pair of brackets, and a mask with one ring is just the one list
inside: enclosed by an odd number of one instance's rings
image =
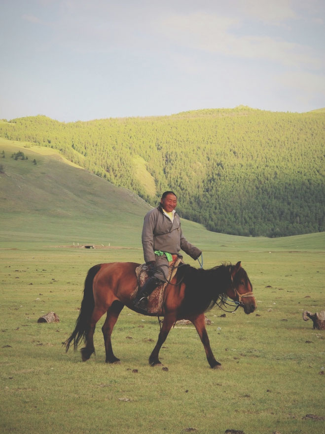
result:
[[(107, 312), (102, 327), (106, 362), (115, 363), (119, 359), (113, 354), (110, 336), (117, 318), (124, 306), (138, 313), (144, 313), (133, 306), (131, 294), (138, 281), (135, 273), (139, 264), (134, 262), (113, 262), (92, 267), (85, 279), (83, 300), (79, 316), (72, 335), (65, 342), (66, 351), (73, 341), (74, 350), (80, 340), (84, 340), (82, 360), (88, 360), (95, 352), (94, 331), (97, 321)], [(193, 322), (203, 343), (208, 362), (212, 368), (221, 366), (212, 353), (209, 337), (205, 328), (204, 313), (215, 304), (222, 306), (226, 297), (230, 297), (237, 306), (244, 308), (246, 314), (254, 312), (256, 303), (253, 288), (241, 263), (221, 265), (210, 270), (196, 269), (183, 264), (177, 270), (172, 281), (166, 286), (164, 304), (156, 316), (164, 316), (158, 341), (153, 349), (149, 364), (161, 364), (159, 351), (167, 335), (179, 319)]]

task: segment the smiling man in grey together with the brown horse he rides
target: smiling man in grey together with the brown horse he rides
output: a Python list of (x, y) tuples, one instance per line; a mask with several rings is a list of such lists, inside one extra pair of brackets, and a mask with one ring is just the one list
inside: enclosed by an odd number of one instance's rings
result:
[[(137, 296), (134, 306), (134, 291), (138, 280), (136, 270), (140, 264), (135, 262), (111, 262), (94, 265), (85, 279), (83, 299), (79, 316), (71, 336), (65, 341), (66, 351), (73, 343), (76, 350), (80, 341), (85, 347), (81, 349), (83, 361), (95, 353), (94, 332), (97, 322), (107, 314), (102, 327), (107, 363), (118, 363), (111, 345), (114, 325), (124, 306), (144, 315), (151, 315), (146, 310), (146, 297), (152, 290), (167, 281), (169, 255), (181, 257), (184, 250), (193, 259), (198, 259), (201, 250), (186, 241), (181, 232), (180, 217), (175, 212), (177, 197), (173, 192), (165, 192), (160, 205), (149, 211), (144, 217), (142, 241), (144, 260), (150, 276)], [(186, 264), (177, 269), (173, 283), (166, 286), (166, 298), (163, 309), (157, 316), (164, 316), (157, 343), (149, 356), (151, 366), (160, 365), (159, 351), (168, 333), (179, 319), (190, 320), (200, 336), (209, 365), (213, 369), (221, 367), (211, 350), (205, 327), (205, 312), (216, 304), (221, 307), (230, 297), (235, 301), (236, 309), (241, 306), (246, 314), (256, 309), (253, 286), (242, 268), (236, 265), (222, 264), (210, 270), (197, 269)], [(232, 305), (233, 306), (233, 305)]]

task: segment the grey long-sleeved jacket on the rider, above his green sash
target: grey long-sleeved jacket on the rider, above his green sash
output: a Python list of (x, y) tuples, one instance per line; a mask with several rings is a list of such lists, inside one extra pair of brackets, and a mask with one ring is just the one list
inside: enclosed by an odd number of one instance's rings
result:
[(145, 262), (155, 260), (155, 250), (172, 254), (178, 254), (180, 250), (183, 250), (193, 259), (197, 259), (202, 253), (200, 249), (193, 246), (183, 237), (180, 216), (175, 213), (172, 223), (163, 213), (161, 205), (151, 209), (144, 216), (142, 245)]

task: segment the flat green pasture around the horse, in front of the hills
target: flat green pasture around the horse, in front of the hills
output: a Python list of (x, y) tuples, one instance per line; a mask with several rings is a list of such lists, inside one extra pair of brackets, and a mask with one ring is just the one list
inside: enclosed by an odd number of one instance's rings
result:
[[(104, 362), (104, 318), (95, 333), (95, 356), (82, 363), (79, 353), (65, 353), (61, 343), (73, 329), (88, 268), (141, 262), (139, 248), (82, 250), (45, 242), (0, 250), (1, 431), (324, 433), (324, 421), (303, 417), (325, 416), (325, 335), (302, 320), (304, 309), (325, 307), (324, 253), (301, 245), (294, 253), (269, 253), (259, 242), (252, 239), (240, 257), (226, 247), (205, 254), (207, 267), (216, 258), (242, 260), (258, 302), (250, 316), (238, 310), (220, 317), (217, 308), (207, 314), (212, 348), (224, 367), (217, 371), (209, 368), (191, 325), (175, 327), (161, 350), (168, 371), (150, 367), (158, 321), (127, 308), (112, 336), (120, 364)], [(36, 322), (49, 311), (59, 323)]]

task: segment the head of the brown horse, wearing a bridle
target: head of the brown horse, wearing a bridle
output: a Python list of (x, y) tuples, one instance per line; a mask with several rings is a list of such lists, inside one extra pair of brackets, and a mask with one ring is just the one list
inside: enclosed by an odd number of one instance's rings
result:
[(241, 262), (231, 265), (229, 268), (231, 286), (227, 290), (228, 297), (239, 303), (244, 308), (245, 314), (251, 314), (256, 309), (256, 301), (253, 296), (253, 286), (242, 268)]

